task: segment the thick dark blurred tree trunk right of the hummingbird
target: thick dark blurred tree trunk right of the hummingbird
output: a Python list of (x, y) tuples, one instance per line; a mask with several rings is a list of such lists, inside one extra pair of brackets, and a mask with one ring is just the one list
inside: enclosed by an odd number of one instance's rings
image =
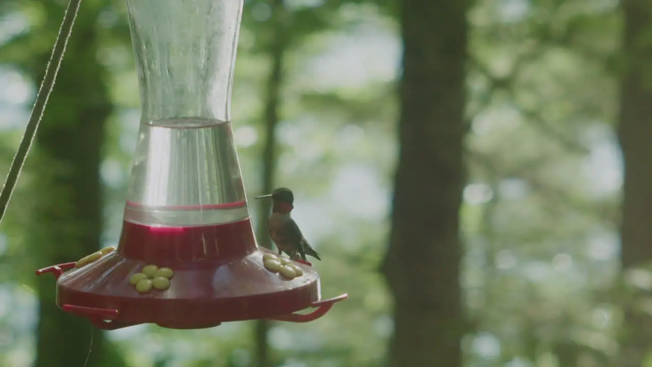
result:
[(391, 367), (462, 365), (459, 208), (466, 0), (405, 0), (400, 142), (382, 271), (394, 296)]

